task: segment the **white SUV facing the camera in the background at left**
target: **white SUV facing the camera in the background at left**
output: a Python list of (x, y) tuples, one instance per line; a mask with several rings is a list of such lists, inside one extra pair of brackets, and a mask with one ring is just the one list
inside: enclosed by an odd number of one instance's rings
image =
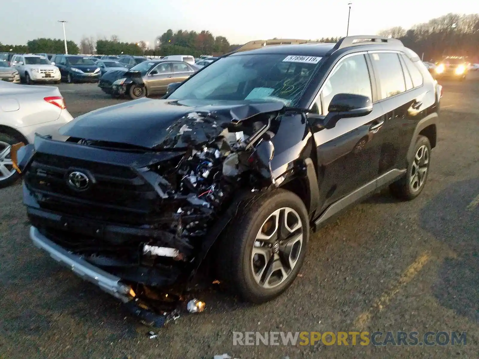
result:
[(27, 84), (34, 82), (60, 83), (61, 74), (58, 67), (52, 65), (50, 60), (39, 55), (14, 55), (11, 66), (20, 73), (20, 79)]

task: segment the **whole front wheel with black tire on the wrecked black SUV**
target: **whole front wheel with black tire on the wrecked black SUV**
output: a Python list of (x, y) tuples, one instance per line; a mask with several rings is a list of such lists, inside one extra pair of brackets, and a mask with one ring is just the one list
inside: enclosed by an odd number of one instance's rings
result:
[(246, 302), (264, 303), (296, 279), (309, 240), (308, 212), (290, 191), (276, 190), (241, 208), (220, 238), (217, 273)]

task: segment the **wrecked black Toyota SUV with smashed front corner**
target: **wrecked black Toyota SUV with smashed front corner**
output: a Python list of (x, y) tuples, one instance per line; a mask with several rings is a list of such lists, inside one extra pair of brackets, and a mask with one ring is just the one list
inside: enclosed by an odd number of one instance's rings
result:
[[(399, 40), (225, 55), (161, 100), (79, 116), (18, 150), (30, 237), (124, 302), (200, 265), (246, 301), (297, 277), (310, 229), (389, 186), (411, 200), (441, 87)], [(15, 156), (14, 156), (15, 157)]]

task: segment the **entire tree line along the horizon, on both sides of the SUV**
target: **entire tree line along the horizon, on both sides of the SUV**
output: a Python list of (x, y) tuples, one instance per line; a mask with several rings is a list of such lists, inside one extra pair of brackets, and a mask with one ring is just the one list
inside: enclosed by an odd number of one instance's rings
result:
[[(436, 59), (445, 55), (479, 56), (479, 14), (461, 15), (449, 13), (428, 22), (414, 25), (411, 29), (396, 26), (379, 33), (383, 36), (399, 38), (403, 44), (414, 50), (424, 60)], [(320, 42), (337, 42), (339, 38), (321, 38)], [(224, 36), (214, 36), (209, 31), (201, 32), (169, 29), (155, 38), (150, 46), (144, 41), (136, 43), (121, 42), (113, 35), (94, 39), (83, 37), (80, 44), (68, 41), (70, 54), (102, 55), (177, 55), (193, 56), (221, 55), (238, 48), (231, 45)], [(40, 38), (30, 40), (26, 45), (2, 45), (0, 52), (15, 53), (63, 53), (64, 43), (61, 39)], [(476, 58), (479, 61), (479, 59)]]

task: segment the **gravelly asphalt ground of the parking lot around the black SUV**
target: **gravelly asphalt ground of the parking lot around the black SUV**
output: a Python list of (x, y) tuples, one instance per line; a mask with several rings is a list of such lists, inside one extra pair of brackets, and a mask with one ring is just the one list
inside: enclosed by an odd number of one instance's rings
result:
[[(58, 87), (73, 116), (125, 101), (94, 84)], [(250, 306), (211, 289), (201, 296), (204, 313), (181, 317), (155, 339), (113, 297), (34, 248), (21, 186), (1, 189), (0, 359), (478, 358), (479, 80), (444, 82), (444, 91), (418, 199), (375, 195), (312, 236), (302, 276), (280, 298)], [(466, 331), (467, 345), (232, 345), (233, 331), (354, 329)]]

